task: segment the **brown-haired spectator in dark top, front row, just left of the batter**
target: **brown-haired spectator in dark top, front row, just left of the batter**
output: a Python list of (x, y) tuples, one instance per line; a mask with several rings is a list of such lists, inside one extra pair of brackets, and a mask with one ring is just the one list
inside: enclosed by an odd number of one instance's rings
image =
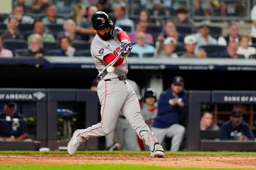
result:
[(60, 39), (60, 49), (56, 52), (57, 56), (79, 56), (76, 48), (72, 47), (73, 43), (71, 38), (63, 36)]

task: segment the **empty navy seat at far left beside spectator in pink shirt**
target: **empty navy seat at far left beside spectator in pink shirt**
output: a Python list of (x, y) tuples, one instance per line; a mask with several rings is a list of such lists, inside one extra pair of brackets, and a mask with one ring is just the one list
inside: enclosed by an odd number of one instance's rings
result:
[(3, 42), (3, 47), (11, 50), (13, 54), (15, 54), (15, 49), (28, 48), (28, 43), (26, 40), (5, 39)]

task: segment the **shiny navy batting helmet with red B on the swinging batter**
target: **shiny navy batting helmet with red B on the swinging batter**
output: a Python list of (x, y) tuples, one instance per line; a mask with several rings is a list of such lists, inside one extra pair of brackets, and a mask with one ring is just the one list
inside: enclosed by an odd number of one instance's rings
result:
[(110, 26), (110, 29), (114, 29), (114, 22), (112, 22), (105, 12), (98, 11), (92, 15), (92, 27), (96, 30), (101, 30)]

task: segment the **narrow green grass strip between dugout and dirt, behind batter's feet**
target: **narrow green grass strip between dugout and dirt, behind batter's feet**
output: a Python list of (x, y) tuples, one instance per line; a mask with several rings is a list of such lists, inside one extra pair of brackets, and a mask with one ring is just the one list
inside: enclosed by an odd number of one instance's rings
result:
[[(68, 154), (67, 151), (0, 151), (0, 154)], [(76, 151), (76, 154), (149, 154), (149, 151)], [(165, 152), (165, 155), (256, 155), (256, 152)]]

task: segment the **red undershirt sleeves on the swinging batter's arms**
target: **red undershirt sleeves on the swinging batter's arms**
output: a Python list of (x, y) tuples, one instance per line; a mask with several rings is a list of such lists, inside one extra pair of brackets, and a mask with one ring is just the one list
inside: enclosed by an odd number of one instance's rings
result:
[[(125, 31), (122, 31), (122, 32), (118, 33), (117, 38), (118, 38), (119, 41), (123, 41), (123, 40), (131, 41)], [(115, 58), (116, 58), (116, 55), (114, 55), (114, 53), (111, 53), (111, 54), (105, 55), (103, 57), (103, 60), (107, 63), (111, 63)], [(124, 62), (124, 59), (119, 58), (117, 60), (116, 64), (114, 65), (114, 67), (117, 67), (117, 66), (121, 65), (123, 62)]]

